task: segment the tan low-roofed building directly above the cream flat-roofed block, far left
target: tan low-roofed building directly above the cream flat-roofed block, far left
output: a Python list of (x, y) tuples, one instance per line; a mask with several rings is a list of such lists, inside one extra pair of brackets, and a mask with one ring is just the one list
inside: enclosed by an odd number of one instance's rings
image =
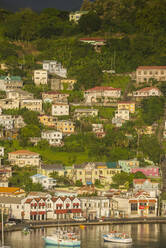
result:
[(6, 92), (6, 97), (8, 99), (16, 99), (16, 100), (33, 99), (34, 98), (32, 93), (27, 92), (25, 90), (21, 90), (21, 89), (7, 91)]

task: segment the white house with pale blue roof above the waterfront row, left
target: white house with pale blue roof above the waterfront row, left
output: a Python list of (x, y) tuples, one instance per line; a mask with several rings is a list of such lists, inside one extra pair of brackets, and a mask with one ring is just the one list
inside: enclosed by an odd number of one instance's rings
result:
[(42, 184), (45, 189), (52, 189), (56, 186), (56, 180), (51, 177), (46, 177), (41, 174), (36, 174), (30, 177), (33, 183)]

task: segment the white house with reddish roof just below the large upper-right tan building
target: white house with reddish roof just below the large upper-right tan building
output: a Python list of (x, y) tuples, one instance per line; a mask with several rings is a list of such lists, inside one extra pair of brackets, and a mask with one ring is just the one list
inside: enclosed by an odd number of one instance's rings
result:
[(133, 92), (134, 97), (161, 96), (161, 91), (156, 87), (146, 87)]

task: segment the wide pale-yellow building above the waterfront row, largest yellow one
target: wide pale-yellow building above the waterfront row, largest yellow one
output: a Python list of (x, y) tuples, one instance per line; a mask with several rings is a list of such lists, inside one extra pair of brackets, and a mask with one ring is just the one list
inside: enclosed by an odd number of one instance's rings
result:
[(94, 184), (96, 180), (104, 185), (112, 183), (112, 177), (120, 173), (115, 163), (89, 162), (73, 165), (73, 181), (80, 180), (83, 185)]

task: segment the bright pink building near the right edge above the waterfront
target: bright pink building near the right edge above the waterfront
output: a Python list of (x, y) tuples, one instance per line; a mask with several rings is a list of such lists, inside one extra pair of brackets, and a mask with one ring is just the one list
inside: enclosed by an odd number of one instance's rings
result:
[(160, 169), (158, 167), (138, 167), (132, 168), (131, 173), (142, 172), (147, 177), (159, 177)]

